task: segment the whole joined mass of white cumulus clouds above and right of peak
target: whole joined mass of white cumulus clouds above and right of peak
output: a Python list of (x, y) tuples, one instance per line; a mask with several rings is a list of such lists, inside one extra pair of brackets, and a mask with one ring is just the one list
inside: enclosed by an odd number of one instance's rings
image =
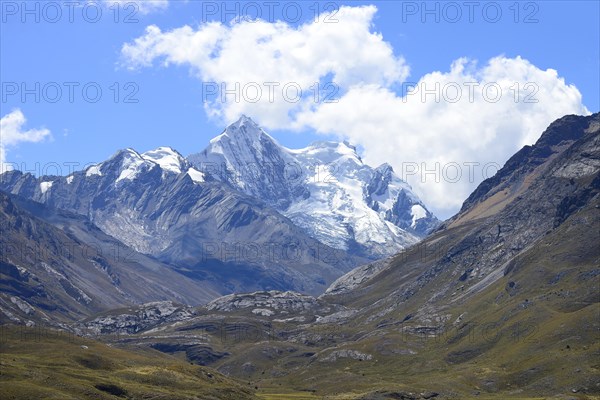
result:
[[(324, 18), (284, 22), (210, 22), (167, 32), (149, 26), (126, 43), (128, 68), (187, 66), (195, 77), (240, 87), (240, 96), (205, 99), (208, 115), (231, 122), (244, 113), (268, 129), (312, 129), (349, 139), (365, 161), (392, 164), (434, 212), (450, 216), (484, 178), (516, 150), (533, 143), (554, 119), (587, 114), (576, 87), (557, 71), (498, 56), (478, 64), (459, 58), (448, 71), (407, 81), (409, 67), (373, 31), (374, 6), (341, 7)], [(289, 101), (265, 82), (335, 82), (337, 102), (313, 96)], [(258, 101), (243, 87), (261, 85)], [(246, 94), (254, 94), (252, 92)], [(279, 94), (279, 96), (277, 96)], [(311, 93), (312, 95), (312, 93)]]

